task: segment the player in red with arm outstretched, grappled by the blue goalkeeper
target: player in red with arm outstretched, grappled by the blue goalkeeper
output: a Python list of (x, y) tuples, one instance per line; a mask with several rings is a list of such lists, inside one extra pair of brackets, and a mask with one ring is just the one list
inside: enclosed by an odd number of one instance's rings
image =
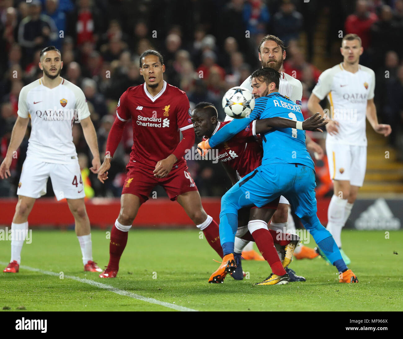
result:
[[(217, 118), (217, 110), (213, 104), (206, 102), (197, 104), (192, 112), (192, 122), (195, 134), (198, 137), (203, 136), (205, 139), (210, 138), (221, 127), (227, 123), (231, 123), (231, 121), (220, 122)], [(302, 128), (316, 130), (323, 125), (323, 121), (324, 119), (320, 119), (320, 116), (316, 115), (312, 120), (309, 118), (306, 119), (302, 124)], [(216, 156), (226, 169), (233, 185), (235, 185), (240, 178), (254, 171), (262, 162), (263, 150), (260, 144), (256, 141), (256, 136), (258, 134), (267, 133), (272, 127), (295, 128), (295, 126), (295, 121), (291, 119), (269, 118), (255, 120), (229, 141), (219, 145), (217, 148), (218, 154)], [(240, 227), (238, 227), (237, 236), (246, 240), (251, 240), (253, 237), (253, 241), (256, 241), (260, 252), (273, 271), (280, 267), (287, 269), (288, 265), (291, 263), (295, 246), (298, 243), (298, 236), (294, 234), (283, 236), (277, 234), (274, 230), (264, 232), (262, 229), (254, 231), (251, 236), (248, 232), (248, 227), (245, 225), (248, 224), (249, 220), (262, 220), (267, 225), (270, 218), (273, 216), (274, 211), (277, 209), (279, 199), (280, 198), (272, 201), (263, 208), (257, 208), (256, 206), (252, 208), (244, 208), (238, 214), (238, 225)], [(291, 239), (292, 241), (290, 242)], [(282, 262), (280, 262), (280, 258), (273, 246), (274, 243), (278, 243), (280, 246), (285, 246), (285, 257)], [(239, 253), (238, 257), (235, 259), (237, 269), (232, 276), (234, 279), (241, 280), (243, 279), (241, 253)], [(209, 282), (222, 282), (224, 277), (225, 275), (217, 277), (213, 273)]]

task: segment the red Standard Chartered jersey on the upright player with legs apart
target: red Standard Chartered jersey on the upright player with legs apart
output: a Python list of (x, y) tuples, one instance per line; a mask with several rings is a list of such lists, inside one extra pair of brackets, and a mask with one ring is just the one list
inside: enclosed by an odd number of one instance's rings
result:
[[(154, 170), (178, 146), (179, 131), (193, 127), (190, 112), (186, 93), (166, 81), (155, 97), (145, 83), (129, 87), (119, 99), (116, 115), (121, 121), (132, 120), (130, 161)], [(183, 157), (176, 164), (181, 162), (186, 163)]]

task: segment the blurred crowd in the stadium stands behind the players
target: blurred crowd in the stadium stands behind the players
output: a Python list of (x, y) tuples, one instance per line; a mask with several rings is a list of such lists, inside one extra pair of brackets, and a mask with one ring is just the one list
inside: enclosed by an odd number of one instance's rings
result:
[[(117, 101), (129, 86), (143, 82), (139, 55), (150, 48), (162, 52), (165, 80), (187, 93), (191, 107), (199, 101), (212, 102), (219, 109), (219, 118), (224, 119), (220, 108), (223, 94), (260, 67), (258, 41), (268, 33), (277, 35), (287, 46), (285, 72), (303, 83), (306, 117), (307, 99), (321, 73), (312, 60), (322, 12), (328, 13), (326, 45), (322, 47), (327, 56), (338, 55), (333, 47), (340, 41), (340, 31), (361, 37), (361, 64), (374, 69), (377, 76), (378, 117), (393, 126), (389, 142), (399, 146), (403, 0), (0, 0), (0, 160), (17, 118), (19, 92), (42, 76), (37, 67), (39, 51), (48, 45), (62, 53), (61, 76), (85, 93), (101, 157)], [(299, 47), (301, 32), (306, 37), (306, 53)], [(132, 146), (131, 124), (127, 125), (105, 185), (86, 170), (91, 154), (81, 126), (73, 126), (83, 176), (92, 187), (88, 197), (120, 196)], [(11, 180), (0, 181), (0, 196), (15, 196), (28, 137), (29, 130), (12, 164)], [(222, 195), (231, 186), (219, 164), (189, 160), (188, 165), (201, 195)], [(324, 195), (331, 182), (322, 172), (318, 167)], [(51, 189), (48, 195), (52, 195)]]

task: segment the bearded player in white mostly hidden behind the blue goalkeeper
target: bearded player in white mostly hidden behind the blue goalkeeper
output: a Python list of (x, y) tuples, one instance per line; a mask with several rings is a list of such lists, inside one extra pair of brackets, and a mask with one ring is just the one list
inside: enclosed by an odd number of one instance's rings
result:
[[(302, 102), (302, 84), (298, 79), (293, 78), (287, 73), (281, 72), (280, 68), (283, 65), (283, 61), (286, 57), (286, 51), (283, 41), (274, 35), (266, 35), (259, 44), (259, 60), (262, 64), (262, 68), (270, 67), (281, 74), (279, 92), (281, 95), (291, 99), (297, 105), (301, 105)], [(251, 77), (249, 76), (242, 84), (241, 87), (247, 88), (252, 92)], [(231, 120), (231, 117), (226, 116), (225, 121)], [(307, 149), (311, 152), (316, 152), (319, 157), (323, 156), (322, 148), (313, 142), (308, 136), (306, 138)], [(291, 216), (291, 210), (289, 208), (289, 202), (285, 197), (280, 197), (280, 203), (278, 208), (272, 217), (270, 228), (273, 230), (281, 230), (282, 232), (295, 233), (295, 224), (293, 217)], [(276, 246), (276, 244), (275, 244)], [(280, 256), (281, 249), (276, 246), (278, 254)], [(245, 259), (254, 259), (255, 256), (248, 256), (249, 253), (253, 253), (253, 243), (248, 240), (235, 238), (235, 254), (242, 253), (242, 257)], [(246, 252), (246, 253), (245, 253)], [(318, 254), (309, 247), (299, 244), (294, 251), (294, 255), (298, 259), (309, 258), (313, 259)], [(281, 256), (280, 256), (281, 259)], [(305, 281), (305, 278), (295, 275), (295, 272), (291, 269), (287, 269), (291, 281)]]

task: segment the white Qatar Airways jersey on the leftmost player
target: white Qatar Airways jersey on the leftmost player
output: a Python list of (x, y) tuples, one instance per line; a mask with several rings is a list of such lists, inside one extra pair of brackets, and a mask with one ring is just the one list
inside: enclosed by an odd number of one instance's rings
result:
[(73, 123), (89, 117), (87, 100), (78, 86), (62, 78), (58, 86), (50, 89), (42, 78), (35, 80), (21, 89), (17, 113), (31, 118), (27, 157), (66, 164), (77, 156)]

